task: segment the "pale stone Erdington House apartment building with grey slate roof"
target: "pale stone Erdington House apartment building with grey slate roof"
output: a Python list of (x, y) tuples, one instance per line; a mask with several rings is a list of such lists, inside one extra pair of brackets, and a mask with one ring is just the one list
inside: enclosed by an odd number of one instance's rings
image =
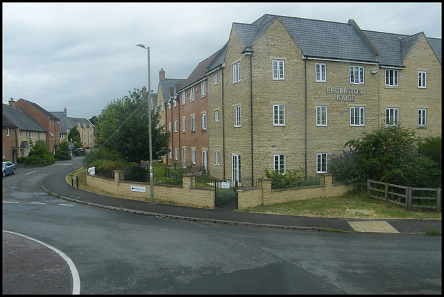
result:
[[(178, 119), (179, 132), (182, 117), (187, 124), (206, 111), (198, 137), (208, 139), (213, 177), (250, 183), (265, 169), (325, 173), (329, 156), (382, 125), (441, 136), (441, 63), (441, 39), (424, 33), (264, 15), (234, 23), (227, 44), (205, 60), (206, 78), (193, 85), (206, 81), (207, 107), (185, 112), (191, 84), (170, 93), (176, 104), (182, 91), (186, 99), (171, 125)], [(188, 151), (191, 134), (181, 136), (177, 147)]]

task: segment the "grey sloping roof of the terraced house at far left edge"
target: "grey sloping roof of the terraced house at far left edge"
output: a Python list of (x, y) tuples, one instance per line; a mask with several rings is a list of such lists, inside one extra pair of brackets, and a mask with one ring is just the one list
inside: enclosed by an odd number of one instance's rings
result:
[(28, 112), (22, 108), (14, 108), (3, 104), (3, 127), (17, 127), (20, 130), (46, 132)]

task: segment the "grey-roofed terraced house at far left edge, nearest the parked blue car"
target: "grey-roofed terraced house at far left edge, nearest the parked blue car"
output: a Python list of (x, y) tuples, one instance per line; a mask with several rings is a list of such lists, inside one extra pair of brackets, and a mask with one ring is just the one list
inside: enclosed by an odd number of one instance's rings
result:
[(9, 104), (3, 104), (2, 157), (16, 163), (17, 158), (28, 156), (31, 141), (46, 141), (46, 129), (24, 109), (15, 107), (14, 100)]

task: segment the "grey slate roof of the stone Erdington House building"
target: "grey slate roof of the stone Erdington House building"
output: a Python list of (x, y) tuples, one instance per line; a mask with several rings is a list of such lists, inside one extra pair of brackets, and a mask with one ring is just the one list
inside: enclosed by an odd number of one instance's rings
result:
[[(420, 37), (361, 30), (355, 21), (347, 24), (316, 19), (264, 15), (252, 24), (234, 23), (245, 47), (254, 48), (256, 40), (280, 19), (306, 57), (373, 62), (382, 66), (403, 67), (402, 61)], [(427, 38), (441, 63), (441, 39)]]

